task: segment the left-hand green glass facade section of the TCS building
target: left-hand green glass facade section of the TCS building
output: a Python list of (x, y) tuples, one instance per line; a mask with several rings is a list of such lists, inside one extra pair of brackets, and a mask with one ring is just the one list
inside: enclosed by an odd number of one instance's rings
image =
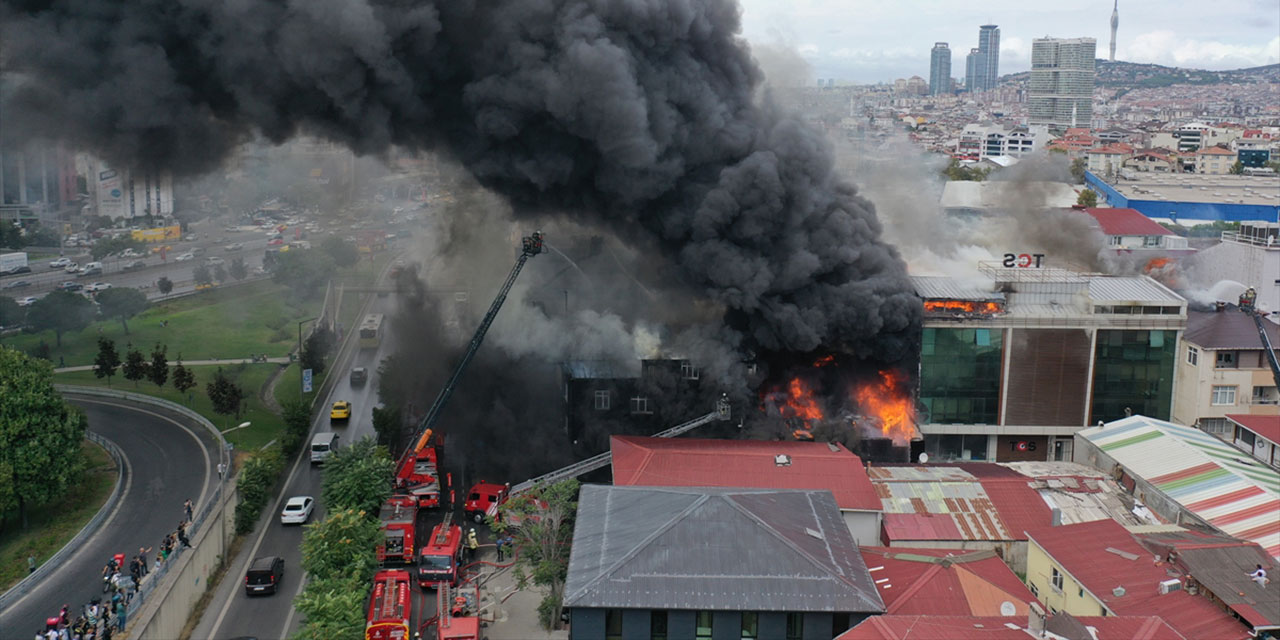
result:
[(998, 424), (1002, 333), (925, 328), (922, 340), (920, 403), (925, 411), (922, 421)]

